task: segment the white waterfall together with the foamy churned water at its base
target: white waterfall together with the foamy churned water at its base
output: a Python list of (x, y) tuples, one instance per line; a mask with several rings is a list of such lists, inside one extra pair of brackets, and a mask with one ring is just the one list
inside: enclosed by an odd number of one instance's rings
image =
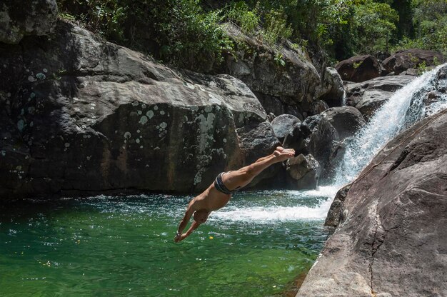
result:
[[(425, 116), (436, 114), (447, 108), (447, 95), (441, 100), (426, 106), (426, 94), (436, 89), (435, 79), (438, 70), (447, 64), (438, 66), (433, 71), (418, 76), (410, 84), (396, 91), (393, 96), (376, 111), (368, 124), (351, 139), (348, 139), (345, 154), (336, 167), (336, 174), (328, 186), (318, 186), (312, 191), (279, 191), (268, 193), (271, 202), (259, 205), (256, 199), (248, 203), (246, 193), (241, 203), (232, 202), (231, 206), (216, 211), (213, 217), (221, 222), (242, 221), (250, 223), (271, 223), (281, 221), (308, 221), (326, 218), (333, 197), (341, 186), (353, 181), (396, 134)], [(241, 194), (242, 195), (242, 194)], [(256, 194), (255, 194), (256, 195)], [(275, 199), (275, 196), (281, 198)], [(313, 201), (313, 202), (312, 202)]]

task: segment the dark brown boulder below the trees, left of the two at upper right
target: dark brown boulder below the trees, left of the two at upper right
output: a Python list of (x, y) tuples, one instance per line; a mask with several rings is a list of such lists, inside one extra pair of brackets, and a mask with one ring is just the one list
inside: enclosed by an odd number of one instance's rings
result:
[(335, 66), (343, 81), (368, 81), (383, 74), (383, 67), (371, 55), (353, 56)]

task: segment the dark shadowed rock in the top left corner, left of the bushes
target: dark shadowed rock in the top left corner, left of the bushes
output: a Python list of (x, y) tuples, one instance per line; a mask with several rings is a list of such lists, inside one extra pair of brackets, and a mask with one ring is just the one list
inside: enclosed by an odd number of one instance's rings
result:
[(57, 21), (55, 0), (5, 0), (0, 4), (0, 42), (18, 44), (26, 35), (48, 35)]

